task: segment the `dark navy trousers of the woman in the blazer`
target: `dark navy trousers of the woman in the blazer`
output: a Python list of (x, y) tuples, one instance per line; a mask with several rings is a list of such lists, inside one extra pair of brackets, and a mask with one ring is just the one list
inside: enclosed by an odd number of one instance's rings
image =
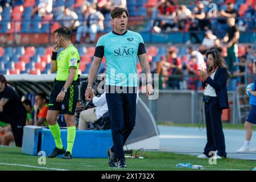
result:
[(218, 107), (217, 97), (210, 97), (210, 102), (204, 105), (207, 125), (207, 144), (204, 154), (209, 156), (210, 151), (218, 151), (217, 155), (226, 157), (225, 138), (222, 130), (222, 109)]

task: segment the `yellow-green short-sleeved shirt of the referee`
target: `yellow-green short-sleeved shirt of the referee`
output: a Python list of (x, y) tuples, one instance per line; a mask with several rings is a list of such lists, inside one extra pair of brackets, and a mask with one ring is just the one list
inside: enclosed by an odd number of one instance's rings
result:
[(66, 81), (69, 75), (70, 68), (76, 68), (76, 76), (74, 78), (74, 81), (77, 80), (80, 57), (79, 52), (77, 51), (75, 46), (73, 46), (73, 44), (65, 48), (63, 51), (61, 51), (56, 61), (57, 81)]

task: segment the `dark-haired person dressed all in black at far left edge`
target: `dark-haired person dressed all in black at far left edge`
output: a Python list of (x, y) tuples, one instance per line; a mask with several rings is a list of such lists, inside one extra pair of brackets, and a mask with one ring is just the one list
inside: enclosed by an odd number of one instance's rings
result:
[(7, 85), (5, 76), (0, 75), (0, 121), (10, 123), (17, 147), (22, 147), (26, 118), (27, 111), (18, 94)]

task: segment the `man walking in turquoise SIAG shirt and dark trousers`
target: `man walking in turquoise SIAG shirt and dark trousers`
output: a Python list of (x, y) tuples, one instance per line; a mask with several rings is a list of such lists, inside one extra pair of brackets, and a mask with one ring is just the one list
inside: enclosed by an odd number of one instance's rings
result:
[[(114, 30), (101, 36), (97, 42), (85, 98), (88, 101), (93, 98), (92, 84), (96, 78), (101, 59), (105, 56), (107, 64), (106, 100), (114, 144), (108, 149), (109, 165), (110, 167), (125, 168), (123, 145), (135, 126), (137, 98), (137, 79), (133, 81), (127, 78), (130, 74), (137, 76), (137, 56), (143, 73), (147, 74), (147, 96), (152, 93), (152, 81), (143, 39), (137, 32), (127, 30), (127, 10), (115, 7), (111, 16)], [(110, 93), (109, 90), (114, 90), (114, 93)], [(130, 90), (133, 92), (128, 92)]]

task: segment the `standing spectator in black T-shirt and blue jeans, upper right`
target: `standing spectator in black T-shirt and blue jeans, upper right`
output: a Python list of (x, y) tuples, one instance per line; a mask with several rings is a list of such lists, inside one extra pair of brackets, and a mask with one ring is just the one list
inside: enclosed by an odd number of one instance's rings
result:
[(228, 31), (223, 41), (227, 43), (227, 64), (230, 73), (235, 71), (234, 63), (237, 62), (238, 58), (238, 40), (240, 38), (240, 33), (236, 27), (236, 19), (228, 18)]

